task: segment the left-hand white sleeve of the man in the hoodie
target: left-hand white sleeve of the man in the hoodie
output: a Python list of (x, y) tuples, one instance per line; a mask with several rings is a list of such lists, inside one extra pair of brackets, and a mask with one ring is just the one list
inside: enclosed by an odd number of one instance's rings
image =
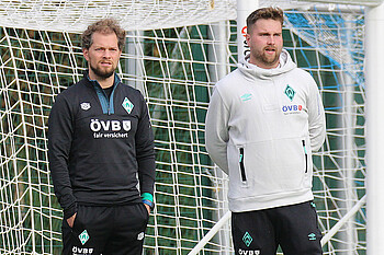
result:
[(228, 108), (216, 89), (211, 97), (205, 119), (205, 147), (211, 159), (227, 174), (228, 119)]

